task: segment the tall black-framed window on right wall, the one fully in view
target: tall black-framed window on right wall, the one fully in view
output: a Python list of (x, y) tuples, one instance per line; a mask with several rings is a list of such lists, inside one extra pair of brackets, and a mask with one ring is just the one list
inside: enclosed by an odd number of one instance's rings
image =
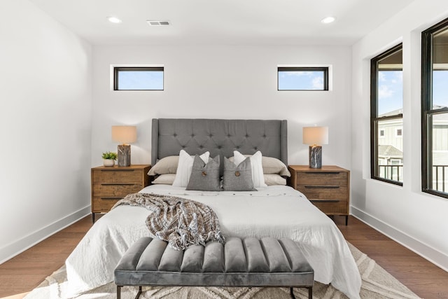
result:
[(371, 60), (371, 176), (402, 185), (402, 45)]

